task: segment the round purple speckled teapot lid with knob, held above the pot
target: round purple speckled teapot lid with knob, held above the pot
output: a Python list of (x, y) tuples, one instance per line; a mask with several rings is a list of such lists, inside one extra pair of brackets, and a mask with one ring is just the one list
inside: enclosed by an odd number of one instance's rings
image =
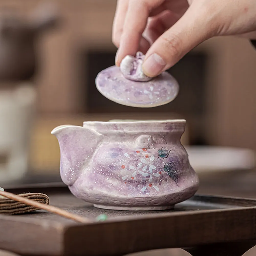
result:
[[(106, 98), (127, 106), (152, 108), (169, 103), (179, 92), (177, 81), (168, 72), (150, 80), (141, 70), (143, 56), (126, 56), (120, 68), (102, 70), (96, 87)], [(150, 80), (150, 81), (149, 81)]]

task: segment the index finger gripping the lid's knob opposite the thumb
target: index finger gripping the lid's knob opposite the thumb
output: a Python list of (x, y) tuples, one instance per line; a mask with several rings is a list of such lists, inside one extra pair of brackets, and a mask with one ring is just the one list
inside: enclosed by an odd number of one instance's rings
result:
[(151, 11), (163, 2), (164, 0), (129, 1), (116, 56), (117, 65), (120, 65), (120, 62), (126, 55), (134, 56), (136, 54)]

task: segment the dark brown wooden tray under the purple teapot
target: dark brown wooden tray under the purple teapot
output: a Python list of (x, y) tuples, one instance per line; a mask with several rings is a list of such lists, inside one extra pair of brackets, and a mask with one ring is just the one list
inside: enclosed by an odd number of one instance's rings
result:
[(105, 222), (80, 224), (45, 212), (0, 215), (0, 249), (20, 255), (125, 255), (160, 248), (184, 248), (193, 256), (241, 256), (256, 244), (256, 200), (200, 196), (174, 210), (113, 211), (75, 198), (66, 186), (7, 189), (46, 193), (50, 204)]

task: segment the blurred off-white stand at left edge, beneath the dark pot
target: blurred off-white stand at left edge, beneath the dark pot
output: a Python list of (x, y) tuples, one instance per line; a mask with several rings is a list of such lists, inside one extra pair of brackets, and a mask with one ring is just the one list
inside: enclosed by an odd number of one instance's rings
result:
[(23, 178), (29, 169), (30, 133), (34, 119), (34, 85), (0, 90), (0, 180)]

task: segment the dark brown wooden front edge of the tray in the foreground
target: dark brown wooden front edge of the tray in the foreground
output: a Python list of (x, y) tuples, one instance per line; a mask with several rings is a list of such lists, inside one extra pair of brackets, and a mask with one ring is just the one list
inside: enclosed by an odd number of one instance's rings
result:
[[(216, 200), (222, 197), (211, 198)], [(244, 200), (233, 197), (224, 197), (224, 200), (230, 198)], [(254, 199), (246, 200), (256, 202)], [(44, 252), (45, 255), (98, 256), (112, 255), (113, 251), (115, 255), (124, 255), (153, 249), (256, 240), (255, 216), (256, 206), (156, 213), (144, 217), (119, 217), (105, 222), (74, 222), (69, 225), (52, 220), (25, 220), (18, 216), (2, 215), (0, 226), (8, 232), (4, 233), (5, 236), (0, 235), (0, 248), (22, 254)], [(20, 232), (21, 229), (26, 229), (25, 235)], [(7, 240), (9, 243), (6, 243)]]

